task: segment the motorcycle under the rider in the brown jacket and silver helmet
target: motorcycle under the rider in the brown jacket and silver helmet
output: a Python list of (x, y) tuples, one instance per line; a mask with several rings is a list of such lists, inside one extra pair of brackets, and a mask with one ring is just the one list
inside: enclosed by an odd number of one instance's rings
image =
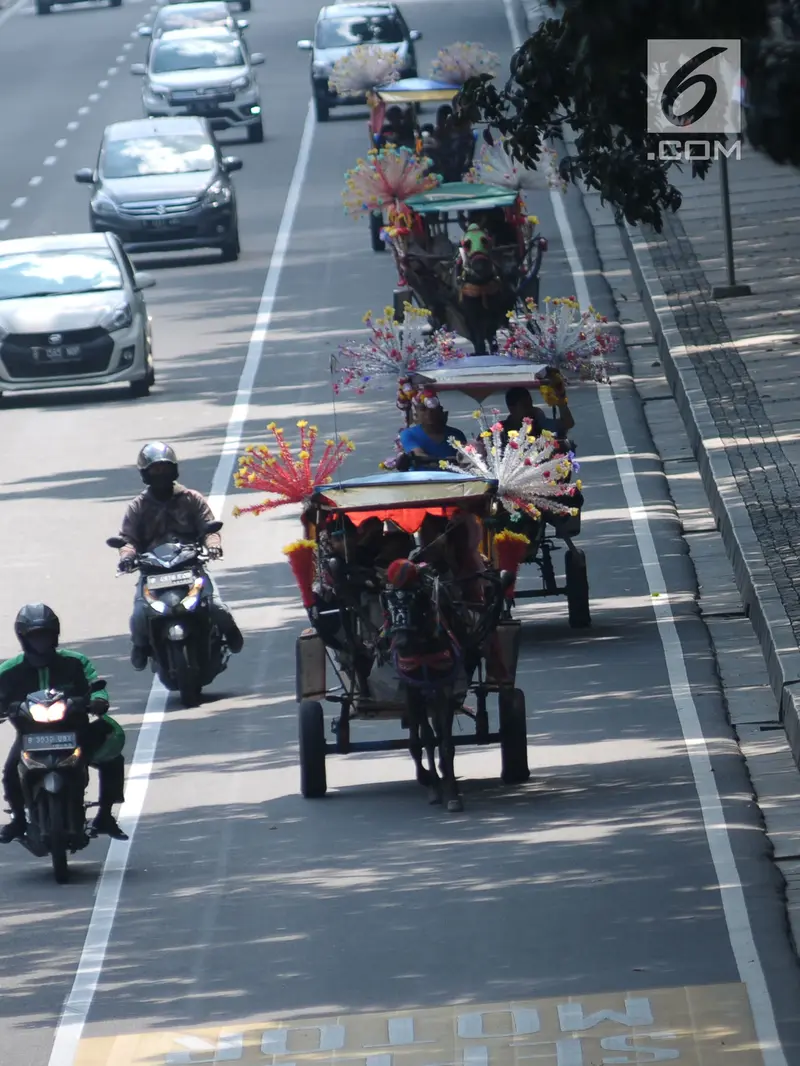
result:
[[(203, 538), (219, 533), (210, 522)], [(109, 537), (110, 548), (124, 548), (122, 537)], [(144, 578), (148, 607), (150, 666), (169, 692), (180, 694), (183, 707), (196, 707), (205, 685), (227, 667), (230, 652), (211, 621), (208, 553), (201, 543), (167, 542), (137, 555), (133, 566)]]

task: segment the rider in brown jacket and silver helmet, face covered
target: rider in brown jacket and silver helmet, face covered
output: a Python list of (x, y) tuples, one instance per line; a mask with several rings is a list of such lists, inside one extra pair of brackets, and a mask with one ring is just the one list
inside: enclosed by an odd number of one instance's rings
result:
[[(150, 441), (139, 453), (137, 466), (147, 487), (128, 506), (123, 518), (119, 536), (126, 546), (119, 549), (119, 570), (133, 570), (138, 554), (151, 551), (169, 540), (185, 544), (203, 542), (209, 559), (222, 559), (220, 534), (203, 534), (214, 520), (211, 508), (201, 492), (178, 483), (178, 459), (173, 449), (161, 440)], [(230, 610), (220, 598), (213, 579), (210, 575), (207, 577), (211, 589), (209, 607), (212, 620), (230, 651), (237, 655), (242, 650), (244, 637)], [(133, 644), (130, 661), (134, 669), (143, 671), (150, 656), (144, 577), (137, 585), (130, 632)]]

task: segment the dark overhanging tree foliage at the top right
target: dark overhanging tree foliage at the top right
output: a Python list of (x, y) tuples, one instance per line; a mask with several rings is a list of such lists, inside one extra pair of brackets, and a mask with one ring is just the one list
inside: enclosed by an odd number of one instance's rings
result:
[[(800, 26), (800, 0), (783, 2)], [(564, 9), (517, 50), (505, 86), (483, 75), (460, 99), (474, 120), (509, 138), (519, 161), (535, 165), (545, 142), (569, 124), (576, 145), (562, 162), (564, 177), (597, 190), (619, 217), (660, 230), (663, 211), (681, 206), (670, 181), (679, 164), (659, 161), (661, 138), (646, 133), (647, 39), (737, 38), (752, 94), (750, 139), (773, 159), (800, 163), (800, 139), (791, 135), (800, 130), (800, 46), (767, 37), (766, 0), (566, 0)], [(705, 177), (710, 164), (690, 165)]]

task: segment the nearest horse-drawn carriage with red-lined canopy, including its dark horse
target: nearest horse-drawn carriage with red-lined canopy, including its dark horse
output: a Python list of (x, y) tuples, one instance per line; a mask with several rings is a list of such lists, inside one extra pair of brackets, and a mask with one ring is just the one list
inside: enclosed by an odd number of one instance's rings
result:
[[(503, 782), (528, 779), (525, 696), (515, 688), (519, 624), (506, 610), (513, 576), (486, 566), (479, 551), (487, 543), (491, 550), (495, 487), (464, 473), (382, 473), (320, 486), (307, 502), (318, 583), (311, 628), (297, 645), (304, 796), (324, 795), (329, 753), (407, 748), (430, 801), (448, 810), (462, 809), (458, 745), (499, 742)], [(323, 701), (338, 706), (333, 740)], [(455, 718), (474, 728), (453, 736)], [(352, 724), (364, 720), (398, 720), (411, 739), (352, 740)]]

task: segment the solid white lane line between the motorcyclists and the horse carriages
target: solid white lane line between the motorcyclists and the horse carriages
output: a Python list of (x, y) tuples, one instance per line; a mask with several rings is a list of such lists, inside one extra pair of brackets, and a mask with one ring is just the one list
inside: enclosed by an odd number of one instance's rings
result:
[[(272, 313), (277, 294), (281, 274), (286, 261), (289, 239), (294, 226), (294, 216), (300, 204), (300, 193), (305, 181), (305, 173), (311, 154), (315, 130), (314, 111), (310, 103), (306, 114), (303, 135), (300, 141), (294, 173), (289, 183), (289, 192), (284, 205), (275, 247), (270, 258), (270, 266), (261, 292), (255, 325), (247, 346), (247, 355), (239, 378), (239, 388), (230, 411), (225, 442), (220, 453), (220, 461), (211, 482), (209, 504), (215, 515), (222, 514), (234, 471), (236, 456), (241, 447), (242, 433), (250, 410), (250, 403), (255, 386), (256, 374), (261, 364), (267, 336), (272, 322)], [(164, 720), (166, 708), (166, 690), (158, 680), (153, 682), (147, 699), (142, 728), (139, 733), (133, 761), (128, 774), (127, 793), (119, 821), (128, 833), (129, 840), (112, 840), (109, 853), (102, 867), (102, 874), (97, 886), (92, 918), (86, 931), (78, 970), (73, 987), (67, 997), (59, 1019), (52, 1052), (48, 1066), (74, 1066), (78, 1053), (86, 1018), (92, 1007), (97, 984), (102, 972), (102, 965), (108, 950), (109, 938), (114, 924), (116, 908), (119, 904), (119, 893), (123, 878), (128, 866), (130, 850), (139, 824), (144, 801), (147, 793), (153, 762), (156, 756), (159, 732)]]

